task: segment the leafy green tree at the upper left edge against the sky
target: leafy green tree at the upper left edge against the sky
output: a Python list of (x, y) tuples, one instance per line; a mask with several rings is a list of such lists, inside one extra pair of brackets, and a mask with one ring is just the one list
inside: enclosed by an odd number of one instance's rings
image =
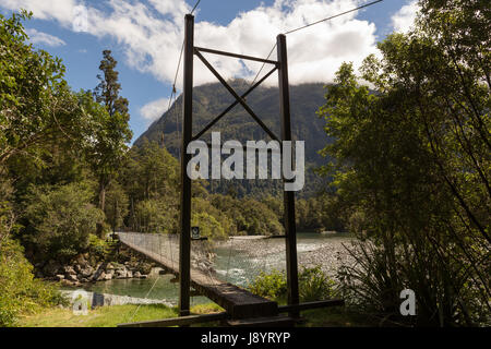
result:
[(43, 165), (60, 139), (80, 139), (84, 121), (61, 60), (27, 44), (31, 16), (0, 14), (0, 165), (16, 155)]

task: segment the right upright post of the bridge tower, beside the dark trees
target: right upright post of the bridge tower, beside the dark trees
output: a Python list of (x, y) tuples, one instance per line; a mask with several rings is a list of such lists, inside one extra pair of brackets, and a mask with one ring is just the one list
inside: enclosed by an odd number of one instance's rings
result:
[[(279, 77), (279, 110), (282, 115), (282, 140), (291, 141), (290, 97), (288, 87), (288, 61), (286, 36), (276, 37), (278, 53)], [(285, 180), (285, 179), (284, 179)], [(295, 225), (295, 192), (284, 191), (285, 233), (286, 233), (286, 267), (288, 305), (299, 303), (298, 296), (298, 265), (297, 265), (297, 228)], [(291, 311), (290, 316), (299, 317), (298, 311)]]

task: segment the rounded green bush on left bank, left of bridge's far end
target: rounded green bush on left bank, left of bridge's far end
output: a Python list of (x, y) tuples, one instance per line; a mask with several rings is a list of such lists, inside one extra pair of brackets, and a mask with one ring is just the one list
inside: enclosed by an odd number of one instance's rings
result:
[(86, 251), (88, 234), (104, 214), (91, 204), (93, 193), (83, 184), (32, 188), (25, 219), (33, 242), (43, 256), (70, 258)]

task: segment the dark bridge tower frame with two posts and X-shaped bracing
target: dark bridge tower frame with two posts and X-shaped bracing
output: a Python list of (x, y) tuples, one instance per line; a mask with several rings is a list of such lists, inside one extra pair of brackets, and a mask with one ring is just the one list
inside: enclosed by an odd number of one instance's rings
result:
[[(184, 85), (183, 85), (183, 124), (182, 124), (182, 148), (181, 148), (181, 215), (180, 227), (181, 234), (179, 241), (179, 314), (180, 316), (190, 315), (190, 287), (191, 287), (191, 179), (188, 177), (187, 168), (191, 160), (191, 155), (187, 153), (190, 142), (200, 139), (207, 130), (209, 130), (218, 120), (220, 120), (235, 106), (240, 104), (246, 111), (260, 124), (260, 127), (275, 141), (280, 141), (254, 113), (248, 106), (244, 98), (261, 83), (263, 83), (271, 74), (278, 70), (279, 83), (279, 107), (282, 123), (282, 140), (291, 141), (291, 120), (290, 120), (290, 100), (288, 85), (288, 63), (287, 63), (287, 46), (286, 36), (280, 34), (277, 40), (278, 61), (265, 60), (251, 56), (224, 52), (208, 48), (194, 46), (194, 16), (185, 15), (184, 27)], [(246, 93), (239, 96), (233, 88), (225, 81), (224, 77), (212, 67), (212, 64), (203, 57), (202, 52), (235, 57), (244, 60), (253, 60), (274, 68), (264, 75), (260, 81), (252, 85)], [(209, 122), (195, 136), (192, 134), (192, 109), (193, 109), (193, 58), (197, 58), (209, 69), (209, 71), (218, 79), (218, 81), (227, 88), (227, 91), (236, 98), (236, 100)], [(285, 179), (284, 179), (285, 181)], [(291, 317), (299, 316), (299, 291), (298, 291), (298, 265), (297, 265), (297, 231), (295, 224), (295, 192), (284, 192), (285, 207), (285, 238), (286, 238), (286, 269), (287, 269), (287, 288), (288, 288), (288, 312)]]

